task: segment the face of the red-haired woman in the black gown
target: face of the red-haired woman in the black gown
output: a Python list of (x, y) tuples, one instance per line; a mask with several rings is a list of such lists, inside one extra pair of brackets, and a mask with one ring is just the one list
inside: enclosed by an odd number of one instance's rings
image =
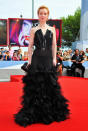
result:
[(48, 12), (47, 12), (47, 9), (40, 9), (40, 10), (39, 10), (38, 17), (39, 17), (39, 21), (41, 21), (41, 22), (46, 22), (46, 21), (48, 20)]

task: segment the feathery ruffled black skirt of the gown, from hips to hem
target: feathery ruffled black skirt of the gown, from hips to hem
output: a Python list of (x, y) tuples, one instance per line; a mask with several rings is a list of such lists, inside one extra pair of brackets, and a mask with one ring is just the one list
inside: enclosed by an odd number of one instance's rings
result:
[(34, 69), (30, 65), (22, 78), (22, 108), (14, 114), (17, 124), (26, 127), (34, 123), (50, 124), (70, 118), (69, 101), (61, 93), (56, 70), (54, 66), (51, 69)]

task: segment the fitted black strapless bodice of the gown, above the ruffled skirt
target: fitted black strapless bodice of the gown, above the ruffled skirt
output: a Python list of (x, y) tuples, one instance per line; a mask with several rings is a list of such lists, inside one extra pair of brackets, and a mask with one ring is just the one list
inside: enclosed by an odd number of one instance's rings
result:
[(48, 69), (52, 67), (52, 39), (53, 33), (49, 29), (46, 30), (44, 35), (41, 29), (35, 32), (35, 50), (32, 56), (32, 67), (39, 68), (43, 66)]

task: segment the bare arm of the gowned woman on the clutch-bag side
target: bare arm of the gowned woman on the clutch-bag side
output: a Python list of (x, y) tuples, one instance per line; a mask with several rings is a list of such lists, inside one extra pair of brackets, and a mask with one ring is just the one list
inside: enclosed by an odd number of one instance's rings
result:
[(31, 28), (28, 46), (28, 64), (31, 64), (33, 43), (34, 43), (34, 28)]

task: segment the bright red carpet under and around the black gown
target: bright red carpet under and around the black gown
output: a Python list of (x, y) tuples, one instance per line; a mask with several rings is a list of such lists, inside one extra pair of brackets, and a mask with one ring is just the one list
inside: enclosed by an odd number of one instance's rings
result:
[(13, 114), (20, 106), (23, 76), (11, 76), (11, 82), (0, 82), (1, 131), (87, 131), (88, 130), (88, 79), (59, 77), (63, 95), (69, 99), (70, 119), (50, 125), (32, 124), (26, 128), (15, 124)]

